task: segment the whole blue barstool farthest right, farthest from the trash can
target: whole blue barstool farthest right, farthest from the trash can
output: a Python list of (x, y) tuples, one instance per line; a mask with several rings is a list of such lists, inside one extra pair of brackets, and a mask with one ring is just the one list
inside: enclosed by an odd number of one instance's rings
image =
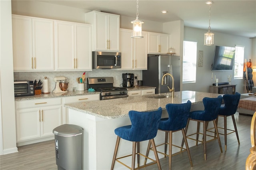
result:
[[(237, 138), (238, 144), (240, 144), (238, 132), (237, 132), (237, 128), (236, 128), (236, 121), (235, 121), (235, 117), (234, 117), (234, 114), (236, 113), (236, 109), (238, 107), (238, 103), (240, 100), (240, 93), (236, 92), (236, 94), (234, 94), (234, 95), (229, 95), (229, 94), (223, 95), (223, 100), (224, 100), (225, 105), (224, 105), (224, 107), (220, 107), (220, 112), (218, 114), (218, 117), (224, 117), (224, 128), (222, 128), (222, 127), (218, 127), (218, 128), (224, 129), (224, 134), (222, 134), (222, 133), (220, 133), (220, 134), (224, 135), (225, 151), (227, 151), (227, 130), (232, 131), (228, 134), (236, 132), (236, 138)], [(228, 116), (232, 117), (235, 130), (227, 129), (227, 117)], [(218, 117), (216, 119), (217, 125), (218, 125)]]

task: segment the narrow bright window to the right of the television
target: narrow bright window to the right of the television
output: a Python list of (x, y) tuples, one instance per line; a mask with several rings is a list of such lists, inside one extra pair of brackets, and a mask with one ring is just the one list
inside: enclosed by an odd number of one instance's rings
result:
[(236, 45), (234, 78), (242, 79), (244, 71), (244, 47)]

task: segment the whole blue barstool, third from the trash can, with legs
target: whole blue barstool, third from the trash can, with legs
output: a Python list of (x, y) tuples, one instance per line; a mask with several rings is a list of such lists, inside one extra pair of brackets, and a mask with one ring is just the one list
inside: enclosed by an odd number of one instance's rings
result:
[[(196, 134), (196, 145), (197, 145), (198, 141), (199, 141), (198, 135), (200, 134), (199, 133), (200, 122), (202, 122), (204, 124), (203, 141), (200, 141), (200, 142), (204, 142), (204, 160), (206, 160), (206, 129), (207, 129), (207, 125), (210, 121), (213, 121), (216, 135), (218, 138), (218, 143), (220, 146), (220, 152), (222, 153), (220, 136), (218, 133), (217, 123), (216, 123), (216, 119), (218, 117), (218, 113), (220, 111), (220, 106), (222, 103), (222, 96), (218, 96), (217, 98), (204, 97), (203, 103), (204, 103), (204, 111), (190, 112), (185, 132), (187, 133), (187, 131), (188, 131), (189, 121), (197, 121), (197, 130), (196, 130), (196, 133), (194, 133), (194, 134)], [(187, 135), (187, 138), (195, 140), (194, 138), (188, 137), (188, 136), (192, 136), (194, 134)], [(183, 146), (183, 141), (182, 141), (182, 146)]]

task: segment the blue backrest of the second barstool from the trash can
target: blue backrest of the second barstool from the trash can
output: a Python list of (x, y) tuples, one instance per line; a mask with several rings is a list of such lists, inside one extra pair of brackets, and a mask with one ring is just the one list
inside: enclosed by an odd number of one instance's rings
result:
[(191, 101), (182, 104), (167, 104), (168, 120), (161, 123), (160, 129), (179, 130), (185, 128), (191, 108)]

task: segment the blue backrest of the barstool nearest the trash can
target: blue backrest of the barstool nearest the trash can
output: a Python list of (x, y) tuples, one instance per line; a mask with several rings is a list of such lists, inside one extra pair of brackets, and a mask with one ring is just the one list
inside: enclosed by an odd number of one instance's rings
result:
[(151, 112), (129, 111), (132, 127), (128, 134), (128, 140), (140, 142), (156, 137), (161, 115), (161, 107), (157, 111)]

